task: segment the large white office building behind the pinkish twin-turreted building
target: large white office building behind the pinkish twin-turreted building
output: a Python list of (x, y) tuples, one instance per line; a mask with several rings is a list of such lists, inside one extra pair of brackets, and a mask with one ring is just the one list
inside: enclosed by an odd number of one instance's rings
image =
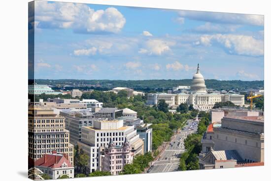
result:
[(116, 146), (129, 141), (132, 152), (144, 154), (144, 142), (136, 134), (134, 126), (124, 126), (123, 120), (94, 120), (93, 127), (82, 127), (79, 147), (90, 156), (89, 172), (102, 169), (102, 157), (110, 139)]

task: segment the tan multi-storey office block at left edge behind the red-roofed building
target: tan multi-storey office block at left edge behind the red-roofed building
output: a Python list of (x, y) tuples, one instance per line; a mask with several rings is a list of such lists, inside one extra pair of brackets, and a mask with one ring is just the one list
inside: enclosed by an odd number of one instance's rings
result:
[(30, 107), (28, 110), (28, 155), (36, 160), (44, 154), (68, 154), (73, 165), (73, 145), (69, 143), (69, 131), (65, 129), (65, 117), (52, 109)]

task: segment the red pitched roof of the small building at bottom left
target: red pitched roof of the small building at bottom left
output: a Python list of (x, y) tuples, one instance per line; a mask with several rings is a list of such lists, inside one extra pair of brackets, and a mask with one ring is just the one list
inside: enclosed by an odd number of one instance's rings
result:
[(61, 168), (64, 162), (67, 163), (67, 167), (72, 167), (68, 159), (61, 154), (45, 154), (35, 161), (35, 166)]

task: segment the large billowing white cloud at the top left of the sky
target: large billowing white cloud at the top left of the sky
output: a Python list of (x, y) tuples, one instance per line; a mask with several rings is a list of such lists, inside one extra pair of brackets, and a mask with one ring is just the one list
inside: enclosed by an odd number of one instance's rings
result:
[(35, 21), (38, 28), (71, 28), (82, 33), (118, 33), (126, 23), (114, 7), (95, 11), (82, 3), (47, 1), (35, 1)]

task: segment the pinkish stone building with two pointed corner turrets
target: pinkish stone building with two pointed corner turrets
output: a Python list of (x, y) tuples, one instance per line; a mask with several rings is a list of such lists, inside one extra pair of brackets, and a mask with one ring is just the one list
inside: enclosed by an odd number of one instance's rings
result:
[(126, 164), (133, 162), (134, 153), (132, 147), (125, 138), (123, 145), (115, 145), (110, 139), (102, 157), (102, 171), (108, 171), (111, 175), (119, 175)]

